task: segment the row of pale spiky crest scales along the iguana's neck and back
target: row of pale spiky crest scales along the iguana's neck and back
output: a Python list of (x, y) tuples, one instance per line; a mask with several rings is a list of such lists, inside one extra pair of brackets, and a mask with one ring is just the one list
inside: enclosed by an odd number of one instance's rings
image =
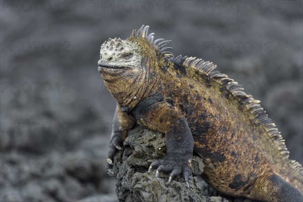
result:
[(252, 98), (251, 95), (247, 95), (243, 91), (244, 89), (233, 79), (228, 78), (226, 74), (213, 71), (217, 65), (214, 65), (212, 62), (196, 59), (195, 57), (182, 57), (181, 55), (174, 57), (174, 55), (170, 52), (172, 49), (172, 47), (170, 47), (171, 40), (164, 40), (163, 38), (154, 40), (155, 33), (148, 34), (148, 28), (149, 26), (142, 25), (137, 31), (133, 30), (130, 36), (147, 38), (151, 43), (155, 44), (159, 48), (160, 53), (164, 54), (164, 56), (173, 63), (177, 63), (184, 68), (197, 70), (198, 75), (195, 75), (195, 77), (207, 76), (209, 79), (224, 87), (238, 100), (242, 106), (244, 106), (251, 113), (254, 120), (260, 126), (264, 126), (270, 139), (280, 151), (280, 154), (285, 157), (288, 165), (297, 171), (301, 177), (303, 177), (302, 166), (298, 162), (288, 159), (289, 151), (286, 148), (285, 140), (282, 138), (280, 131), (276, 128), (276, 125), (266, 114), (266, 111), (261, 107), (260, 100)]

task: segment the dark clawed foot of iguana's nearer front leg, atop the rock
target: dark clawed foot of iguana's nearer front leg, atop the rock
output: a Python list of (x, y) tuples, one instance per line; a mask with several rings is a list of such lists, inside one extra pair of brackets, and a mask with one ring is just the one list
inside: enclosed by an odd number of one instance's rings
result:
[(188, 179), (190, 175), (190, 163), (191, 158), (188, 159), (180, 156), (167, 156), (164, 159), (156, 160), (151, 163), (148, 173), (153, 171), (153, 169), (157, 169), (156, 177), (159, 177), (159, 172), (170, 172), (170, 177), (168, 180), (169, 183), (172, 181), (172, 179), (182, 173), (186, 186), (189, 188)]

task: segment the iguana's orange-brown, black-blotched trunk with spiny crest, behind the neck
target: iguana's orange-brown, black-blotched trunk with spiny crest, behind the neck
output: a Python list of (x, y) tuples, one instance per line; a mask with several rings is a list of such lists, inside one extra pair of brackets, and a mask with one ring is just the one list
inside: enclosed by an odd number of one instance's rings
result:
[(225, 194), (243, 196), (260, 176), (274, 173), (302, 192), (302, 167), (288, 159), (260, 101), (215, 67), (179, 56), (160, 68), (160, 91), (186, 118), (194, 151), (204, 159), (204, 179)]

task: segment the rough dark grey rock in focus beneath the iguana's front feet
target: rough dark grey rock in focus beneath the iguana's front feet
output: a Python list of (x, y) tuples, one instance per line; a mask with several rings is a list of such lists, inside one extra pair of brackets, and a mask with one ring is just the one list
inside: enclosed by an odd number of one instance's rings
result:
[[(190, 177), (189, 189), (181, 176), (168, 183), (169, 175), (156, 170), (148, 173), (148, 167), (154, 159), (166, 155), (165, 138), (162, 133), (137, 125), (129, 131), (123, 142), (124, 150), (118, 151), (114, 158), (113, 172), (116, 175), (116, 193), (120, 201), (251, 201), (249, 199), (209, 196), (215, 193), (205, 183)], [(203, 173), (203, 161), (194, 156), (191, 171), (194, 176)], [(200, 182), (202, 182), (200, 180)]]

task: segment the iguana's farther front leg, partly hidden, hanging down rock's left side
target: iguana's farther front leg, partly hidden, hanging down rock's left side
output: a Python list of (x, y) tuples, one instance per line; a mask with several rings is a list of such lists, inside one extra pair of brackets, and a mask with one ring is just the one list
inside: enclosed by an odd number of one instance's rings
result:
[(110, 175), (114, 175), (112, 171), (113, 158), (116, 150), (121, 150), (120, 143), (124, 141), (127, 136), (128, 130), (130, 130), (136, 123), (136, 120), (122, 112), (120, 106), (117, 104), (116, 111), (113, 118), (113, 129), (110, 140), (110, 148), (106, 155), (108, 162), (107, 170)]

